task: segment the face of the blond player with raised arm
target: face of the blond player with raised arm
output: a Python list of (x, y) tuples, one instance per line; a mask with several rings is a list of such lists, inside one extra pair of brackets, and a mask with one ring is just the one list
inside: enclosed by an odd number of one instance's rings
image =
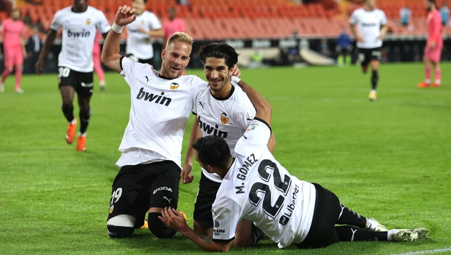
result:
[(191, 53), (191, 44), (186, 42), (174, 41), (169, 43), (161, 52), (160, 74), (170, 79), (180, 77), (183, 70), (189, 63), (189, 54)]

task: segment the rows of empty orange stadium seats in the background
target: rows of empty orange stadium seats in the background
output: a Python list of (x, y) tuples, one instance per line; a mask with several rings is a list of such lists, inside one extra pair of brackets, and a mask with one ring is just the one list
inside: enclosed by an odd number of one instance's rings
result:
[[(90, 0), (89, 4), (101, 9), (112, 23), (118, 6), (130, 2)], [(50, 27), (54, 13), (72, 3), (73, 0), (33, 0), (32, 4), (23, 4), (19, 8), (27, 23), (39, 25), (45, 32)], [(295, 4), (290, 0), (216, 0), (214, 3), (211, 0), (190, 0), (190, 5), (185, 6), (178, 5), (177, 0), (148, 0), (146, 8), (164, 23), (168, 18), (167, 9), (175, 7), (177, 15), (186, 22), (187, 33), (195, 40), (224, 40), (290, 38), (294, 32), (299, 37), (334, 38), (343, 28), (349, 31), (347, 17), (359, 7), (342, 1), (345, 6), (340, 6), (340, 11), (333, 0), (318, 0), (317, 3), (309, 4)], [(413, 14), (410, 28), (398, 24), (399, 10), (404, 3), (407, 3)], [(378, 0), (377, 4), (389, 18), (391, 35), (425, 35), (427, 12), (423, 0)], [(5, 18), (7, 14), (0, 12), (0, 21)], [(451, 27), (444, 27), (443, 33), (451, 35)], [(126, 37), (125, 32), (122, 39)]]

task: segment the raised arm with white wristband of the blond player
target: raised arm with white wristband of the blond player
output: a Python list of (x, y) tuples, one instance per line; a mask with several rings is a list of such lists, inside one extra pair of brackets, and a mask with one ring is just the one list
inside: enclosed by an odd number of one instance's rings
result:
[(103, 50), (101, 55), (102, 63), (113, 69), (114, 71), (121, 72), (121, 54), (119, 54), (120, 47), (119, 42), (121, 40), (121, 33), (124, 26), (135, 21), (136, 16), (135, 8), (124, 5), (120, 6), (116, 12), (116, 17), (114, 18), (113, 26), (111, 27), (108, 36), (103, 43)]

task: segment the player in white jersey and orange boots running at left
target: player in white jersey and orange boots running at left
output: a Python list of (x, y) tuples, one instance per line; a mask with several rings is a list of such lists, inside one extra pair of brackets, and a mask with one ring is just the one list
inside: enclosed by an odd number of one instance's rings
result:
[(93, 89), (92, 48), (96, 31), (106, 37), (110, 25), (103, 12), (88, 5), (88, 0), (74, 0), (74, 5), (55, 13), (43, 50), (36, 62), (36, 72), (41, 74), (44, 59), (55, 40), (56, 33), (63, 28), (61, 52), (58, 56), (58, 87), (61, 92), (61, 108), (69, 122), (66, 142), (75, 139), (77, 119), (74, 117), (74, 94), (78, 96), (80, 108), (80, 132), (77, 151), (86, 150), (86, 130), (90, 121), (90, 99)]

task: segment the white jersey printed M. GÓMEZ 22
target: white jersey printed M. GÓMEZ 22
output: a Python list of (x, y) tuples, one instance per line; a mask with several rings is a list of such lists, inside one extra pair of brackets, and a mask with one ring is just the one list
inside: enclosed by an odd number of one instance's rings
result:
[(213, 239), (230, 241), (241, 219), (285, 248), (309, 233), (316, 189), (280, 165), (267, 148), (271, 128), (255, 118), (235, 146), (235, 158), (213, 203)]

